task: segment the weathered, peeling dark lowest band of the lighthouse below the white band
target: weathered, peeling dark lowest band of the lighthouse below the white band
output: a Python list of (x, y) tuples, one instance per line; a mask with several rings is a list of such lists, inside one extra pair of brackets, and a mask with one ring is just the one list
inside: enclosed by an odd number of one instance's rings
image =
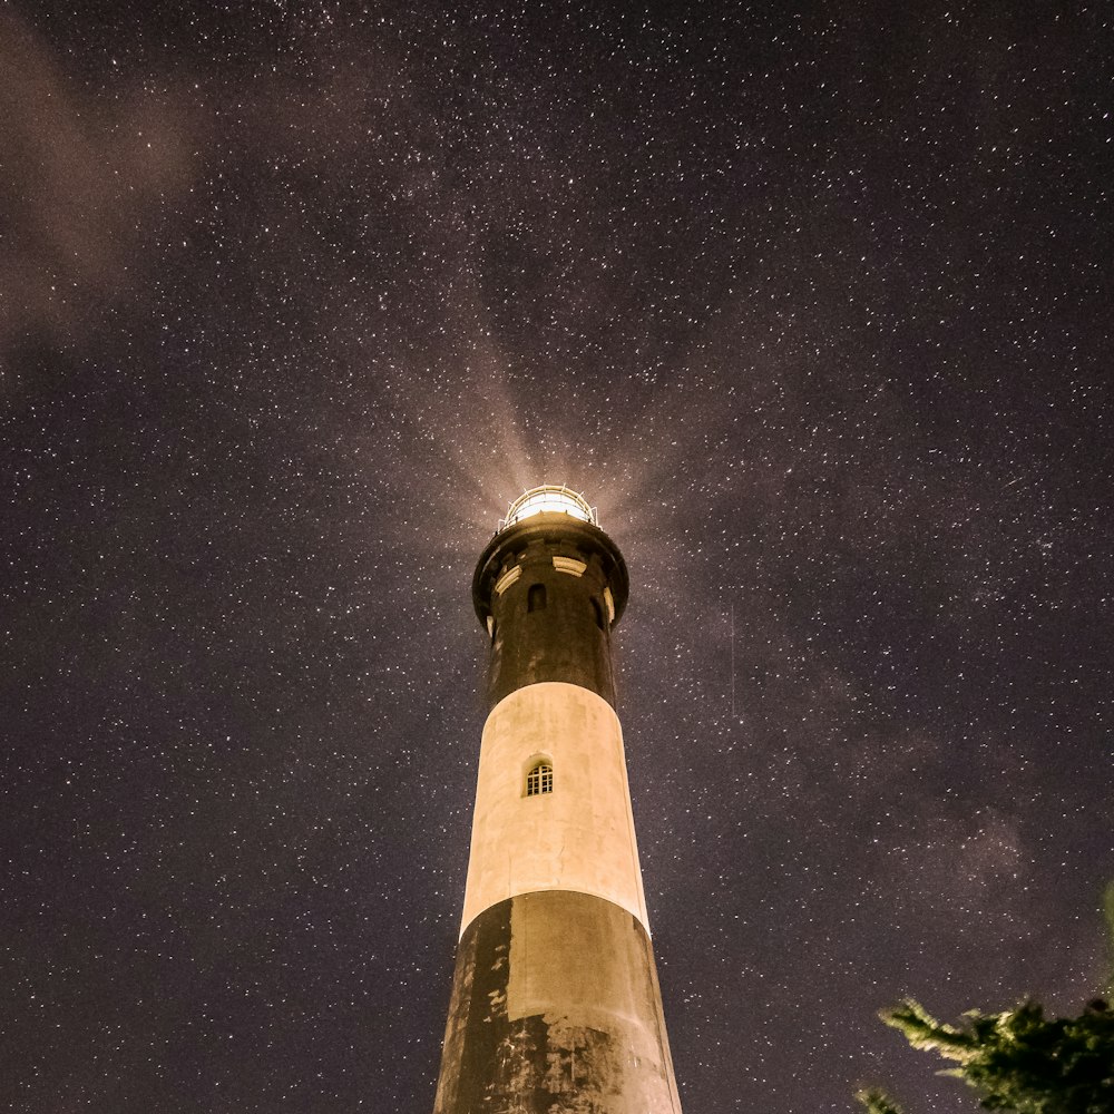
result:
[(610, 901), (521, 893), (460, 940), (434, 1114), (680, 1114), (649, 936)]

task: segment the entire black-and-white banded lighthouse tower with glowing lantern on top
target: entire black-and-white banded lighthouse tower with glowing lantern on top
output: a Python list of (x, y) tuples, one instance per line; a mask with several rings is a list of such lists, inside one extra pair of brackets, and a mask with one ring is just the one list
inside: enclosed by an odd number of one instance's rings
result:
[(563, 487), (516, 500), (476, 568), (490, 711), (434, 1114), (681, 1112), (614, 707), (626, 597)]

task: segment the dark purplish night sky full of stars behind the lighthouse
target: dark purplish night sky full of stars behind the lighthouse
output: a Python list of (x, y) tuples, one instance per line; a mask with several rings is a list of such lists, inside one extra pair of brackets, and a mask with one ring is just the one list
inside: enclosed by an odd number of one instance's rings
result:
[[(227, 10), (224, 10), (227, 7)], [(432, 1104), (486, 639), (567, 482), (687, 1114), (975, 1101), (1105, 978), (1101, 4), (0, 13), (0, 1098)]]

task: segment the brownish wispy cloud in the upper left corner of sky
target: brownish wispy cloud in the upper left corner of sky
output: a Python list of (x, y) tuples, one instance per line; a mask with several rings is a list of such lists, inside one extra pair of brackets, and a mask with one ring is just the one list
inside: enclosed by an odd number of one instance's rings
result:
[(144, 246), (193, 176), (168, 90), (87, 89), (0, 14), (0, 353), (74, 340), (143, 277)]

